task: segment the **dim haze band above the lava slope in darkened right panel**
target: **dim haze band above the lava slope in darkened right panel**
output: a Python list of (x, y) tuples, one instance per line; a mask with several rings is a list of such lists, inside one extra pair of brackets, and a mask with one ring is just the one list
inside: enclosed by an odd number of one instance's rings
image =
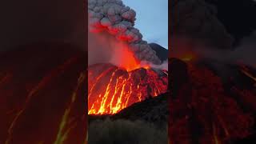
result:
[(193, 41), (192, 38), (176, 38), (172, 43), (170, 57), (182, 58), (191, 55), (194, 60), (207, 58), (228, 64), (243, 63), (256, 68), (256, 33), (243, 38), (242, 42), (232, 49), (219, 49), (218, 47), (203, 46), (202, 43)]

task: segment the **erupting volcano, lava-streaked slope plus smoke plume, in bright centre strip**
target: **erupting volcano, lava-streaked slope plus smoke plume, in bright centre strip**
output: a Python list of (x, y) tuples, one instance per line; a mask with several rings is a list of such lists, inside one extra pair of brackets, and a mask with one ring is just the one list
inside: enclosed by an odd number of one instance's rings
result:
[(116, 114), (165, 93), (166, 62), (134, 28), (135, 11), (120, 0), (89, 0), (88, 9), (88, 114)]

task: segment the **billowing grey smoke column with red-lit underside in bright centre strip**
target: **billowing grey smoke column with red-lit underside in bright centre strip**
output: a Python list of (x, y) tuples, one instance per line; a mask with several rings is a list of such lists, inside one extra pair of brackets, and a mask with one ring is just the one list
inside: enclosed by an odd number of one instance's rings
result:
[(89, 29), (91, 32), (106, 30), (115, 38), (129, 44), (138, 61), (161, 64), (155, 51), (142, 40), (142, 34), (134, 28), (136, 13), (121, 0), (89, 0)]

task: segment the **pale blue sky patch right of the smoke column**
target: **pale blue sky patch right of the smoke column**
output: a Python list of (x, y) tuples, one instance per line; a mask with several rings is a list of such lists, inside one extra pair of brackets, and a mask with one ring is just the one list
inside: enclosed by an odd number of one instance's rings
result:
[(168, 48), (168, 0), (122, 0), (136, 11), (135, 27), (143, 40)]

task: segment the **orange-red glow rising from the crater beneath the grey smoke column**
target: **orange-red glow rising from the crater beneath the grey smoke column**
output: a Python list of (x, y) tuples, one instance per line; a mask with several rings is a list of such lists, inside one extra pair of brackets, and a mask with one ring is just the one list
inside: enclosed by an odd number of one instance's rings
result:
[[(94, 40), (97, 39), (97, 42)], [(124, 41), (124, 39), (118, 41), (116, 38), (112, 37), (110, 34), (106, 33), (90, 33), (90, 58), (103, 57), (104, 61), (109, 62), (127, 71), (136, 70), (138, 68), (150, 68), (150, 64), (146, 62), (138, 61), (136, 54), (131, 50), (129, 43)], [(98, 49), (97, 56), (94, 49)], [(102, 52), (102, 53), (100, 53)], [(141, 56), (141, 55), (140, 55)], [(93, 62), (99, 63), (99, 62)]]

